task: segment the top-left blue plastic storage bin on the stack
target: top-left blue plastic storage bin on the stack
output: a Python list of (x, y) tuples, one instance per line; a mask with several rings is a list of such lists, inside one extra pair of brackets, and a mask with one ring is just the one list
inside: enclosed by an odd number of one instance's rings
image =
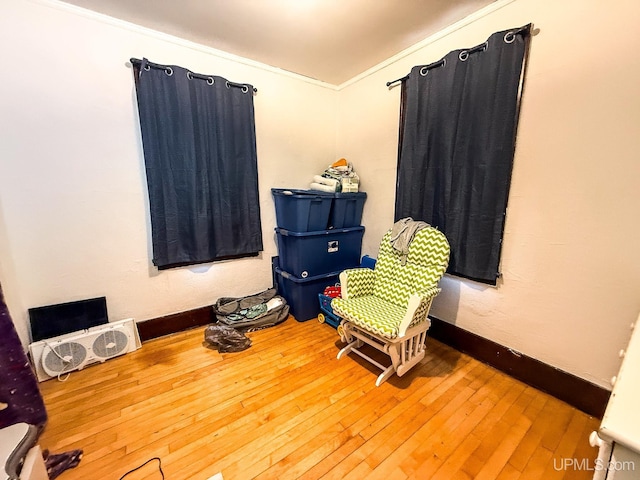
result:
[(325, 230), (333, 194), (309, 190), (272, 188), (276, 205), (276, 224), (293, 232)]

